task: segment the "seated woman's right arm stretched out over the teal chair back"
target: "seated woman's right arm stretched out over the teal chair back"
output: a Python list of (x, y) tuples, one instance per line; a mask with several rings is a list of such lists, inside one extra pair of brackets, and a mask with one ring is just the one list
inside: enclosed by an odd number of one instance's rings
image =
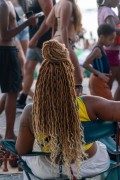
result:
[(98, 96), (83, 96), (83, 100), (91, 120), (120, 122), (120, 101), (111, 101)]

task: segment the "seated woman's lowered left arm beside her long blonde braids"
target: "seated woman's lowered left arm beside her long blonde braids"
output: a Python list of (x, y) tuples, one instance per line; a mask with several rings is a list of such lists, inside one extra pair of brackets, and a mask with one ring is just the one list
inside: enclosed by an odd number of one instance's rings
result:
[(32, 152), (34, 144), (34, 134), (32, 130), (32, 105), (28, 105), (21, 116), (19, 134), (16, 141), (16, 151), (18, 154)]

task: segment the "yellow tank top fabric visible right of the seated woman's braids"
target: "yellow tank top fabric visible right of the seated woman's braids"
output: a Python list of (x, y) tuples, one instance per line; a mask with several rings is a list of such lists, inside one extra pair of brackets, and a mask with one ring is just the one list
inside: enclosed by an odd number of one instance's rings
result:
[[(78, 108), (78, 114), (80, 117), (80, 121), (90, 121), (90, 118), (88, 116), (85, 104), (82, 100), (82, 98), (77, 97), (77, 108)], [(88, 149), (90, 149), (90, 147), (93, 145), (93, 143), (87, 144), (85, 145), (85, 150), (87, 151)]]

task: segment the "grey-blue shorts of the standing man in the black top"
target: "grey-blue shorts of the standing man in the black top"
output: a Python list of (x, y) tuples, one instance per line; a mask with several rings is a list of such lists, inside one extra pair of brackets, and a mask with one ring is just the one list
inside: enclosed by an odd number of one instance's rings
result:
[(28, 48), (26, 59), (28, 61), (38, 61), (39, 63), (42, 62), (42, 54), (40, 48)]

